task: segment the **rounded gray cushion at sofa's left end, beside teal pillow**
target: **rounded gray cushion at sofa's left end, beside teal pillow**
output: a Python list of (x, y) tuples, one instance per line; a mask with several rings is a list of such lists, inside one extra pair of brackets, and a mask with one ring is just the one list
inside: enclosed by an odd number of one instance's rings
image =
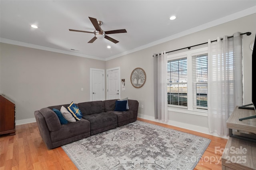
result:
[(52, 111), (52, 109), (46, 107), (46, 108), (40, 109), (39, 112), (43, 115), (46, 121), (46, 124), (48, 126), (48, 129), (50, 131), (55, 131), (60, 129), (60, 120), (58, 116), (54, 113), (54, 111)]

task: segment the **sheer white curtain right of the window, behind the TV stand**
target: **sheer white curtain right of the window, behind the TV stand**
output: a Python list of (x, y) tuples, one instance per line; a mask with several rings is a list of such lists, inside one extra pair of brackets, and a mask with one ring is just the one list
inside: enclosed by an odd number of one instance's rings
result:
[(236, 105), (243, 103), (242, 36), (208, 40), (208, 128), (228, 135), (226, 121)]

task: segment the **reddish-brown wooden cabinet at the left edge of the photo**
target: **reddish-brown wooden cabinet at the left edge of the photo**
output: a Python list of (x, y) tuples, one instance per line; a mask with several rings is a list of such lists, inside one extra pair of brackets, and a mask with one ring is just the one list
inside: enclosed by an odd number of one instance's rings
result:
[(0, 95), (0, 134), (15, 134), (15, 104), (5, 95)]

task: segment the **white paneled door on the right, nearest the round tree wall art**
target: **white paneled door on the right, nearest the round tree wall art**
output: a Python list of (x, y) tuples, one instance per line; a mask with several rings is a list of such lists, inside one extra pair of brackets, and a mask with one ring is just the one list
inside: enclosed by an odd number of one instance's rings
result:
[(120, 68), (107, 70), (107, 99), (120, 99)]

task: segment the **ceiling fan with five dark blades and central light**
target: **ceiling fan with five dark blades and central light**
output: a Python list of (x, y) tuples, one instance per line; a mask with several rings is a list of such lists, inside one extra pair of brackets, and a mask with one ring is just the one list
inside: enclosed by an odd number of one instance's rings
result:
[(95, 36), (90, 40), (88, 43), (93, 43), (97, 38), (106, 38), (107, 40), (110, 40), (113, 43), (118, 43), (119, 41), (107, 36), (106, 34), (117, 34), (117, 33), (126, 33), (125, 29), (122, 30), (112, 30), (112, 31), (106, 31), (104, 32), (100, 26), (103, 24), (102, 21), (97, 21), (96, 18), (89, 17), (90, 21), (92, 22), (92, 25), (96, 29), (94, 32), (89, 32), (89, 31), (80, 31), (80, 30), (71, 30), (70, 31), (75, 31), (75, 32), (86, 32), (86, 33), (93, 33)]

